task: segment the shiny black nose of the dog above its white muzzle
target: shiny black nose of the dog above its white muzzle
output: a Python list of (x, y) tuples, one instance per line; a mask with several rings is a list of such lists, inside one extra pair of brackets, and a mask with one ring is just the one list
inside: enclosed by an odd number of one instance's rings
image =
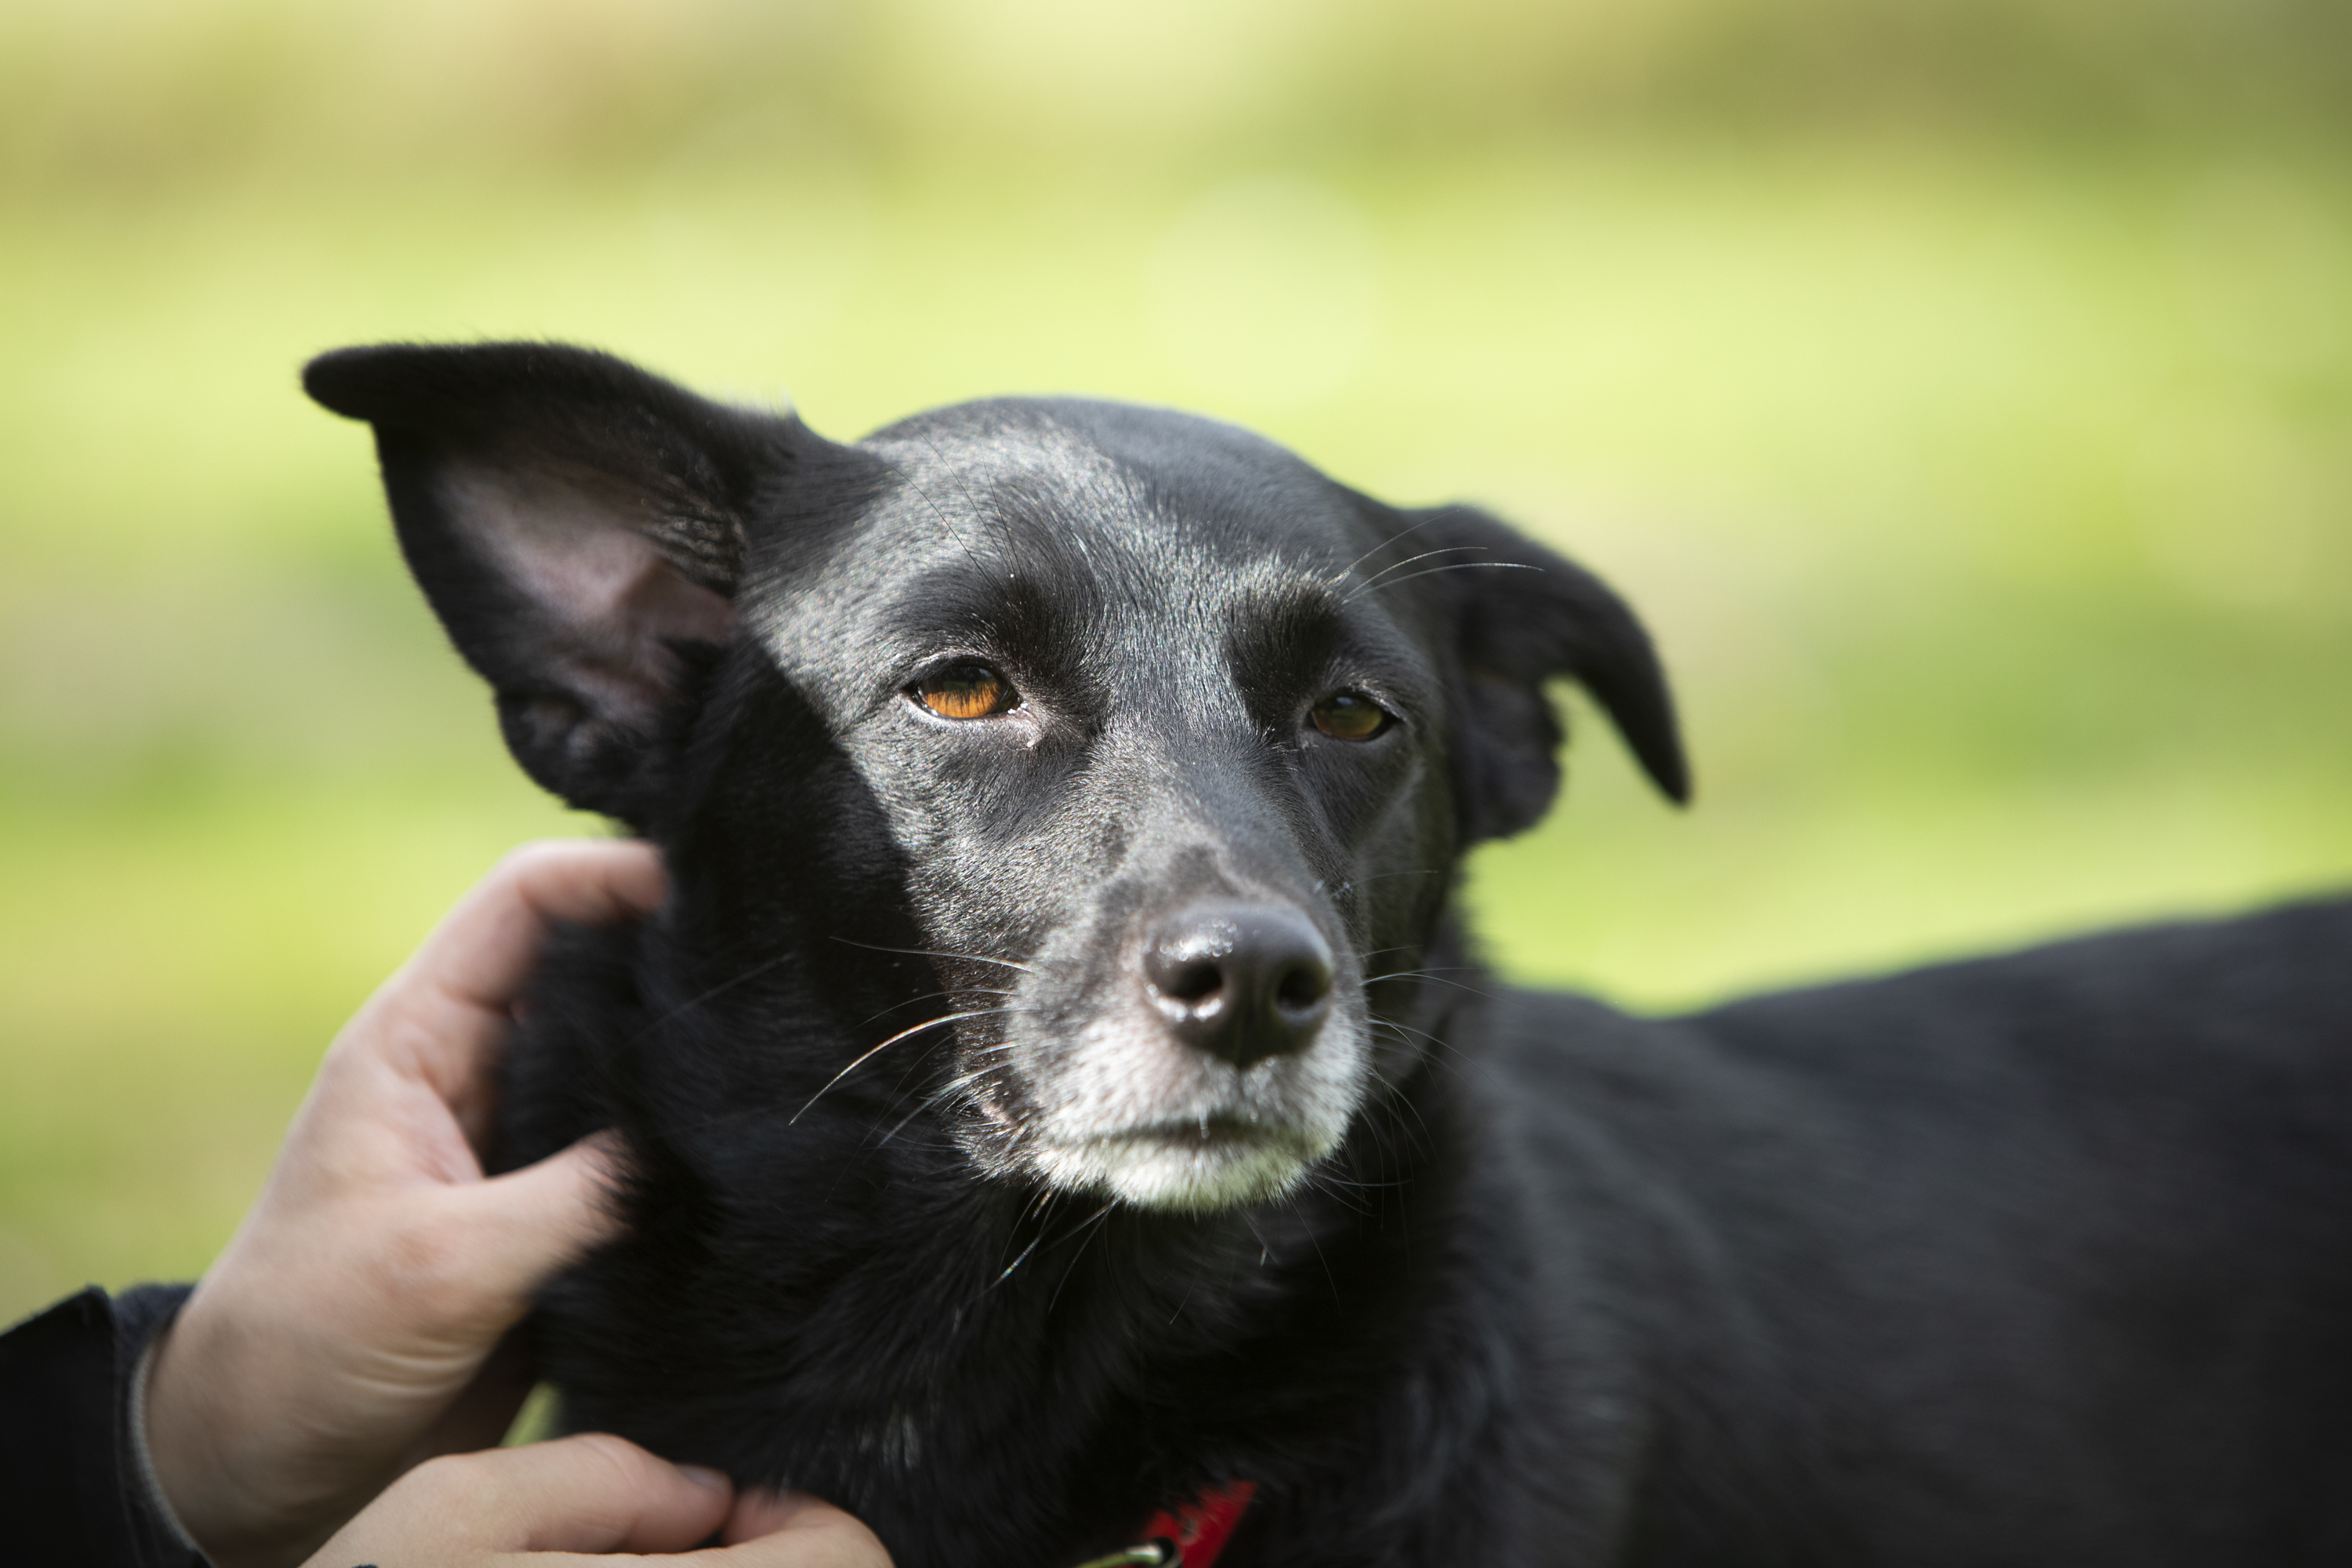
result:
[(1185, 1044), (1247, 1067), (1315, 1039), (1331, 1011), (1331, 943), (1282, 905), (1195, 905), (1152, 933), (1143, 978)]

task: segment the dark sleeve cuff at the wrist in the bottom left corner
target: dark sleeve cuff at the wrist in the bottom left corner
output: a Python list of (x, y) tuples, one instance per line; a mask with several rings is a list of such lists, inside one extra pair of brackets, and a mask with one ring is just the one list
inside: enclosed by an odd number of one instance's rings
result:
[(202, 1568), (155, 1507), (132, 1375), (188, 1286), (89, 1288), (0, 1335), (0, 1544), (59, 1568)]

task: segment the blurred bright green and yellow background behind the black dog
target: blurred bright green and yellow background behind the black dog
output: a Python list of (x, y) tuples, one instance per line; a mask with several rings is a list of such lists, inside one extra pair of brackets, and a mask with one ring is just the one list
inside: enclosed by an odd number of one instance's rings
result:
[(1581, 722), (1472, 879), (1524, 978), (2352, 875), (2336, 0), (16, 0), (0, 1319), (200, 1269), (350, 1006), (581, 827), (294, 386), (482, 334), (844, 437), (1185, 404), (1581, 555), (1700, 795)]

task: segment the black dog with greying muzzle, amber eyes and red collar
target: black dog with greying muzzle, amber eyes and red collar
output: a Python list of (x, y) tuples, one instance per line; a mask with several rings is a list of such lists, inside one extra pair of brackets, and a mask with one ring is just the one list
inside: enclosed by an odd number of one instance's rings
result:
[(1545, 682), (1686, 785), (1635, 618), (1494, 520), (1096, 402), (306, 386), (522, 766), (675, 875), (510, 1063), (508, 1161), (642, 1164), (539, 1316), (572, 1425), (903, 1568), (2352, 1561), (2352, 905), (1503, 990), (1449, 907)]

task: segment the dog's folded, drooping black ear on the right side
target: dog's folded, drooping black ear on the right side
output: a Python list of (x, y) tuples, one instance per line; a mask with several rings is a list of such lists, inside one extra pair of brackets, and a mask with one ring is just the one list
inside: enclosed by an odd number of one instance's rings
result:
[[(1423, 564), (1404, 564), (1416, 555)], [(1562, 731), (1543, 686), (1562, 677), (1592, 693), (1668, 799), (1691, 799), (1665, 670), (1606, 583), (1468, 505), (1406, 512), (1367, 569), (1383, 562), (1402, 567), (1399, 581), (1425, 571), (1416, 585), (1451, 616), (1468, 708), (1454, 736), (1468, 839), (1534, 827), (1559, 792)]]

